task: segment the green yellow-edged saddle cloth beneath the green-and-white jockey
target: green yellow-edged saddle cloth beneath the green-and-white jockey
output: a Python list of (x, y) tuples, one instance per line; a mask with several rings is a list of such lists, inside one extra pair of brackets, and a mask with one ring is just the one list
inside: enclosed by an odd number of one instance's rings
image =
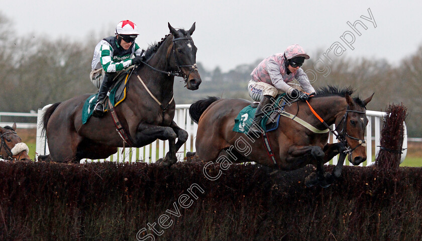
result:
[[(126, 99), (126, 92), (127, 92), (127, 85), (129, 81), (129, 76), (132, 73), (132, 69), (128, 69), (128, 71), (122, 72), (118, 75), (113, 83), (112, 87), (110, 87), (109, 95), (104, 99), (104, 112), (109, 111), (109, 101), (113, 104), (113, 106), (117, 106), (118, 104), (122, 103)], [(96, 99), (98, 93), (90, 95), (83, 104), (82, 108), (82, 125), (85, 124), (89, 117), (91, 117), (92, 112), (95, 107)]]

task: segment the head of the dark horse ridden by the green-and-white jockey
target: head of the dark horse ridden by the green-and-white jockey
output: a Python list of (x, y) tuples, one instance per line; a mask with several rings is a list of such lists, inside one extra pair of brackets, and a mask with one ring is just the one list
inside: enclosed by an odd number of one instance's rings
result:
[(195, 90), (202, 82), (196, 67), (196, 46), (192, 40), (192, 33), (195, 31), (195, 23), (188, 31), (183, 29), (175, 30), (168, 23), (168, 28), (173, 34), (174, 61), (176, 66), (183, 73), (186, 88)]

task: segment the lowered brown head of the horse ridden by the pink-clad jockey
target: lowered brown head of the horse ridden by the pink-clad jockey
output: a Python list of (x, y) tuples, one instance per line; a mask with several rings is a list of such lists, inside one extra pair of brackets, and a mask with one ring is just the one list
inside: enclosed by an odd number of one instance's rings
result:
[[(373, 95), (361, 100), (352, 98), (346, 93), (345, 97), (348, 107), (343, 118), (341, 118), (339, 123), (336, 123), (340, 137), (347, 142), (347, 148), (349, 149), (348, 160), (353, 165), (359, 165), (366, 161), (365, 129), (368, 125), (366, 104), (371, 101)], [(371, 140), (367, 141), (370, 142)]]

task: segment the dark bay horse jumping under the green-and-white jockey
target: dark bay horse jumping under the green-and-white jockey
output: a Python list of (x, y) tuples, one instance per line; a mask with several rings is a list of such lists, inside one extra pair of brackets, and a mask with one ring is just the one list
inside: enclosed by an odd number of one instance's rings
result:
[[(188, 138), (187, 132), (173, 121), (174, 76), (182, 76), (190, 90), (198, 89), (201, 83), (197, 48), (191, 37), (195, 23), (187, 31), (176, 30), (170, 23), (168, 28), (170, 34), (145, 51), (145, 62), (129, 78), (125, 101), (115, 108), (132, 147), (168, 140), (169, 152), (160, 160), (162, 165), (177, 162), (176, 152)], [(126, 145), (116, 132), (110, 111), (101, 118), (90, 117), (82, 125), (82, 106), (88, 96), (76, 96), (46, 109), (43, 126), (50, 154), (39, 160), (79, 163), (82, 158), (103, 159)]]

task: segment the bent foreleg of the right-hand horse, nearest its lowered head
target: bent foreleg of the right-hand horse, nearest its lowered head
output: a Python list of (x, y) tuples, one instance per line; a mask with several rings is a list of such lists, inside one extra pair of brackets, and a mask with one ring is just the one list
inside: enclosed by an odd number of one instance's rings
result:
[(325, 157), (324, 162), (330, 161), (333, 157), (340, 154), (336, 167), (333, 172), (325, 173), (324, 176), (328, 184), (332, 184), (342, 174), (344, 160), (346, 159), (346, 153), (344, 152), (346, 147), (341, 143), (327, 144), (324, 147)]

